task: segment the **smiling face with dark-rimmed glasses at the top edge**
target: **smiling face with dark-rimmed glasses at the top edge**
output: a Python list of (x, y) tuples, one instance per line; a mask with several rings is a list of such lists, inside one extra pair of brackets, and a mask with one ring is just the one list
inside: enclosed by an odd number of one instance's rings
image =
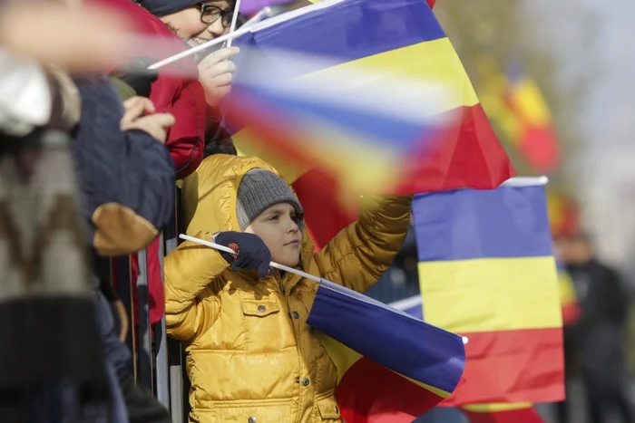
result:
[[(220, 0), (202, 3), (206, 5), (204, 18), (202, 5), (188, 7), (161, 17), (163, 23), (170, 26), (181, 40), (192, 47), (218, 38), (230, 31), (230, 28), (225, 28), (223, 25), (223, 22), (231, 21), (231, 15), (225, 17), (227, 11), (232, 8), (230, 2)], [(219, 16), (218, 19), (214, 19), (216, 16)], [(206, 23), (203, 20), (213, 22)]]

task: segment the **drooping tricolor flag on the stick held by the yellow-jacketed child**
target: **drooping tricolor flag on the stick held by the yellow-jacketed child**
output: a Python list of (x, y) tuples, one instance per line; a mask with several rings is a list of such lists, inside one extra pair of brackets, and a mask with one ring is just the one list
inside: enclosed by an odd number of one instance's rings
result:
[(347, 423), (410, 423), (461, 380), (460, 336), (340, 285), (320, 282), (307, 322), (337, 366)]

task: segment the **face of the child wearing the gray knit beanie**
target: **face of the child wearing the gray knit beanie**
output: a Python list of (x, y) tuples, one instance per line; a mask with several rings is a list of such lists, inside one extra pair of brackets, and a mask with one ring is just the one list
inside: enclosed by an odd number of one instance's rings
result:
[(302, 233), (296, 209), (288, 203), (275, 204), (259, 214), (245, 232), (262, 238), (271, 252), (271, 260), (295, 267), (300, 260)]

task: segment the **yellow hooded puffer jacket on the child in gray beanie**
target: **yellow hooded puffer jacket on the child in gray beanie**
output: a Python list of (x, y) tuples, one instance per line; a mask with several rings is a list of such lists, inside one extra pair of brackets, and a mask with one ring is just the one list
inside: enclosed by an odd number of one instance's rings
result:
[[(236, 192), (259, 159), (214, 155), (183, 185), (190, 236), (239, 230)], [(305, 272), (364, 292), (404, 241), (412, 197), (365, 197), (359, 220), (318, 254), (305, 233)], [(168, 333), (186, 342), (190, 422), (340, 421), (337, 370), (307, 324), (318, 284), (295, 274), (232, 273), (211, 248), (185, 242), (165, 260)]]

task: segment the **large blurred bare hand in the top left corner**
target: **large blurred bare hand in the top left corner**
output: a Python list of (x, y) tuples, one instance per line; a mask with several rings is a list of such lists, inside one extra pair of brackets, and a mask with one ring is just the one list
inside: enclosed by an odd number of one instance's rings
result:
[(0, 13), (0, 47), (68, 72), (100, 71), (128, 53), (126, 16), (71, 3), (10, 1)]

